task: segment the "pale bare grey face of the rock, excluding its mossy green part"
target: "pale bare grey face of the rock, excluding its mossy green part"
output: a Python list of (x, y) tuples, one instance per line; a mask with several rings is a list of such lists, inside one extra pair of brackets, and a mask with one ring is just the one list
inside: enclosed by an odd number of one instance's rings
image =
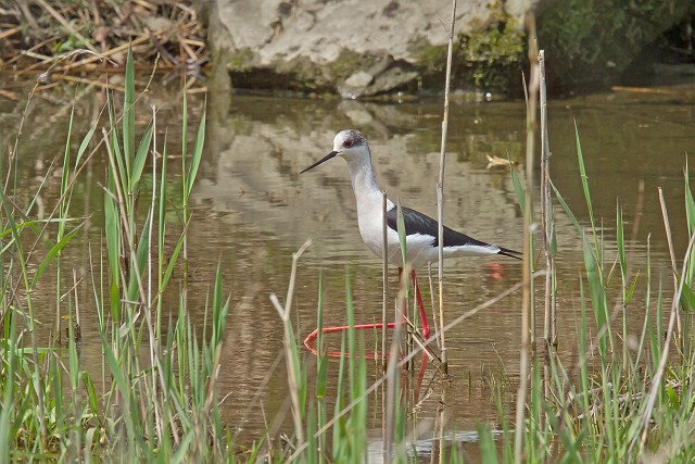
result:
[[(204, 1), (204, 0), (201, 0)], [(539, 0), (514, 0), (527, 9)], [(490, 0), (459, 0), (456, 33), (484, 22)], [(210, 40), (232, 71), (276, 73), (343, 98), (416, 78), (418, 52), (445, 46), (451, 2), (421, 0), (208, 0)], [(521, 22), (519, 22), (521, 24)], [(219, 37), (219, 39), (218, 39)]]

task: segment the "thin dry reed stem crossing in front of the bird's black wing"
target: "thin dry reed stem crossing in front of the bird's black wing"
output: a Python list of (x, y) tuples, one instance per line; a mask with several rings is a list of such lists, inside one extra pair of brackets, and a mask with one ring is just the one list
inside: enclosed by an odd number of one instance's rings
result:
[(444, 166), (446, 164), (446, 135), (448, 131), (448, 93), (452, 81), (452, 62), (454, 61), (454, 26), (456, 25), (456, 0), (452, 1), (452, 22), (448, 28), (446, 51), (446, 81), (444, 84), (444, 114), (442, 116), (442, 143), (439, 159), (439, 179), (437, 183), (437, 222), (438, 222), (438, 283), (439, 283), (439, 323), (442, 350), (442, 371), (448, 375), (448, 355), (444, 339)]

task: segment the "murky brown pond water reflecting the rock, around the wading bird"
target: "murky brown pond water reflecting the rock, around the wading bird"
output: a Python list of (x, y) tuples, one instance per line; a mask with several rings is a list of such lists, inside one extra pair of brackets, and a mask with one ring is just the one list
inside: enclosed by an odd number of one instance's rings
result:
[[(695, 87), (673, 86), (667, 93), (603, 93), (551, 101), (548, 106), (552, 178), (579, 221), (589, 226), (589, 215), (577, 163), (577, 125), (586, 164), (594, 215), (606, 239), (607, 261), (615, 256), (616, 205), (622, 209), (630, 265), (646, 273), (647, 237), (652, 272), (671, 285), (658, 190), (662, 188), (674, 233), (675, 254), (686, 248), (683, 206), (683, 168), (693, 166), (695, 153)], [(71, 93), (72, 95), (72, 93)], [(147, 95), (148, 104), (161, 108), (159, 133), (168, 138), (168, 152), (180, 153), (180, 106), (174, 95)], [(103, 96), (83, 90), (76, 98), (76, 130), (84, 134), (98, 117)], [(33, 192), (51, 160), (64, 149), (72, 99), (37, 95), (29, 109), (18, 143), (21, 176)], [(3, 156), (14, 143), (25, 103), (0, 101)], [(300, 339), (317, 323), (319, 278), (324, 281), (324, 323), (345, 324), (345, 283), (350, 281), (357, 323), (380, 321), (382, 305), (381, 261), (362, 242), (355, 200), (348, 167), (332, 160), (309, 173), (300, 171), (332, 150), (332, 139), (343, 128), (355, 128), (368, 138), (381, 187), (404, 205), (437, 216), (435, 184), (439, 172), (442, 104), (439, 100), (403, 103), (362, 103), (255, 96), (211, 93), (207, 98), (206, 150), (194, 190), (194, 221), (189, 231), (192, 289), (191, 314), (203, 325), (203, 306), (217, 264), (225, 276), (225, 290), (232, 310), (227, 323), (219, 394), (225, 416), (237, 427), (240, 440), (261, 437), (267, 426), (291, 435), (287, 374), (282, 353), (282, 325), (269, 297), (285, 300), (292, 253), (307, 238), (313, 243), (300, 260), (292, 319)], [(189, 99), (192, 139), (202, 111), (202, 98)], [(147, 112), (143, 111), (143, 116)], [(522, 220), (508, 170), (486, 168), (486, 155), (509, 156), (521, 162), (525, 153), (525, 104), (511, 102), (454, 101), (450, 114), (445, 223), (484, 241), (520, 250)], [(147, 123), (143, 117), (142, 123)], [(165, 129), (166, 128), (166, 129)], [(80, 136), (81, 137), (81, 136)], [(75, 142), (74, 143), (78, 143)], [(172, 163), (172, 184), (178, 174)], [(60, 170), (59, 170), (60, 171)], [(84, 213), (91, 225), (80, 244), (74, 244), (78, 278), (88, 274), (89, 244), (100, 247), (100, 183), (104, 160), (96, 159), (84, 186)], [(536, 166), (536, 173), (538, 166)], [(536, 180), (538, 181), (538, 180)], [(535, 187), (538, 190), (538, 185)], [(60, 176), (49, 176), (41, 197), (50, 211), (60, 191)], [(559, 351), (571, 364), (577, 354), (574, 331), (580, 316), (579, 279), (583, 274), (581, 239), (555, 203), (558, 241)], [(536, 243), (540, 248), (540, 237)], [(435, 267), (433, 268), (435, 273)], [(519, 262), (504, 256), (469, 258), (445, 265), (445, 318), (453, 321), (509, 287), (520, 283)], [(430, 311), (427, 271), (419, 273)], [(539, 281), (539, 284), (541, 284)], [(390, 308), (395, 298), (396, 275), (392, 269)], [(634, 324), (642, 329), (644, 298), (631, 305)], [(89, 288), (85, 289), (89, 300)], [(37, 314), (48, 326), (53, 303)], [(176, 301), (172, 301), (175, 310)], [(615, 302), (609, 302), (609, 305)], [(540, 311), (540, 310), (539, 310)], [(96, 315), (83, 310), (83, 363), (101, 372), (101, 347)], [(451, 383), (446, 390), (446, 429), (468, 432), (476, 424), (494, 421), (496, 383), (514, 393), (521, 343), (521, 293), (514, 292), (465, 319), (447, 333)], [(539, 313), (539, 334), (542, 315)], [(48, 337), (48, 330), (42, 335)], [(367, 335), (367, 343), (371, 343)], [(332, 340), (334, 343), (337, 339)], [(314, 376), (315, 356), (302, 347), (303, 362)], [(417, 359), (416, 367), (419, 367)], [(338, 362), (331, 361), (331, 372)], [(370, 378), (380, 374), (376, 364)], [(331, 375), (329, 375), (331, 378)], [(332, 376), (336, 378), (336, 375)], [(404, 398), (409, 421), (424, 436), (440, 404), (442, 384), (433, 363), (426, 366), (422, 385), (417, 376), (403, 374)], [(334, 388), (334, 386), (332, 387)], [(312, 391), (312, 390), (309, 390)], [(332, 398), (329, 391), (328, 398)], [(433, 393), (433, 394), (432, 394)], [(380, 439), (380, 393), (370, 402), (370, 426)], [(513, 398), (505, 397), (505, 401)], [(428, 431), (429, 429), (429, 431)], [(375, 443), (377, 442), (375, 441)], [(427, 453), (427, 446), (422, 447)], [(471, 456), (472, 457), (472, 456)], [(473, 457), (475, 459), (475, 457)]]

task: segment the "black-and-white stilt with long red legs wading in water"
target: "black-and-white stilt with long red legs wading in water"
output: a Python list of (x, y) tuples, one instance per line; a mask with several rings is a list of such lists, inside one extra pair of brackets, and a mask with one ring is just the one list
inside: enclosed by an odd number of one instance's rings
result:
[[(383, 244), (382, 193), (374, 175), (371, 152), (369, 151), (367, 139), (357, 130), (341, 130), (333, 139), (333, 151), (302, 171), (302, 173), (313, 170), (336, 156), (340, 156), (348, 162), (350, 176), (352, 177), (352, 188), (357, 202), (357, 223), (362, 239), (375, 254), (381, 256)], [(415, 269), (427, 263), (439, 261), (438, 222), (408, 208), (401, 208), (401, 211), (405, 223), (406, 261), (410, 263), (413, 268), (413, 285), (416, 291), (418, 311), (422, 319), (422, 337), (428, 339), (430, 328), (420, 289), (417, 285)], [(403, 258), (396, 221), (396, 205), (391, 200), (387, 200), (388, 261), (389, 264), (397, 266), (399, 273), (401, 273)], [(518, 251), (476, 240), (448, 227), (444, 227), (443, 253), (444, 258), (503, 254), (516, 259), (520, 254)], [(374, 326), (380, 326), (380, 324)]]

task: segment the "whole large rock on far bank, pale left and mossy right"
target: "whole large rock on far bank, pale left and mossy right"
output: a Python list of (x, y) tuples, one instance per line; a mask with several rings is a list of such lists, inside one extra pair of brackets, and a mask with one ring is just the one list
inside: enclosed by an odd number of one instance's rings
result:
[[(207, 9), (214, 59), (226, 63), (242, 85), (334, 90), (355, 99), (419, 78), (425, 88), (441, 90), (451, 0), (193, 1)], [(633, 17), (623, 14), (622, 0), (458, 0), (455, 34), (470, 34), (466, 43), (471, 47), (457, 55), (457, 67), (468, 66), (476, 76), (494, 73), (495, 65), (520, 67), (521, 47), (515, 38), (488, 34), (488, 27), (494, 32), (504, 24), (515, 34), (534, 10), (539, 42), (553, 60), (548, 77), (556, 85), (605, 81), (623, 73), (693, 1), (645, 0), (640, 9), (653, 14)], [(622, 20), (606, 23), (607, 17)], [(500, 79), (518, 75), (515, 68)], [(494, 84), (493, 77), (483, 84)]]

